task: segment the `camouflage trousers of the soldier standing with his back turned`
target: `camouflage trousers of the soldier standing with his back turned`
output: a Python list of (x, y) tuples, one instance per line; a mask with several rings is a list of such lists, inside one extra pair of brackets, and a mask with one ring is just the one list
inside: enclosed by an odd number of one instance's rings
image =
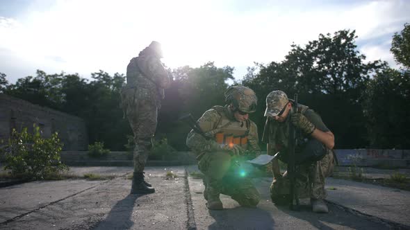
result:
[(157, 123), (158, 108), (147, 100), (138, 100), (133, 112), (126, 114), (134, 134), (136, 144), (133, 150), (134, 172), (142, 172), (152, 148)]

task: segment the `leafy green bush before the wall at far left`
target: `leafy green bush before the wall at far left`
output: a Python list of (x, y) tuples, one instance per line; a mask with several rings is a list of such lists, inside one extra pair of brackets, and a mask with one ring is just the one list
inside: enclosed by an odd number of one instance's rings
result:
[(43, 138), (40, 127), (33, 125), (33, 134), (24, 127), (22, 132), (13, 129), (8, 143), (3, 147), (6, 154), (6, 170), (13, 177), (22, 179), (47, 179), (57, 172), (67, 170), (60, 161), (63, 144), (54, 133), (49, 139)]

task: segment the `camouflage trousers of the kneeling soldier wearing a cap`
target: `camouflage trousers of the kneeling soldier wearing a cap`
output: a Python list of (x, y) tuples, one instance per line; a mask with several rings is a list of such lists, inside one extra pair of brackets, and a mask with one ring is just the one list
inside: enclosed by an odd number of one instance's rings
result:
[[(325, 199), (325, 178), (334, 170), (334, 153), (327, 150), (327, 154), (320, 161), (305, 163), (297, 166), (295, 189), (300, 198)], [(287, 176), (274, 179), (270, 186), (272, 200), (286, 199), (290, 192), (290, 180)]]

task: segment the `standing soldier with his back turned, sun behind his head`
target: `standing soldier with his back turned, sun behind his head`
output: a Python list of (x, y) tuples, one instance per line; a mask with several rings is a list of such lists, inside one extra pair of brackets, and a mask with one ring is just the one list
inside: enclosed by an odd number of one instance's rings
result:
[(151, 139), (155, 134), (164, 89), (170, 86), (161, 57), (161, 44), (154, 41), (138, 57), (133, 57), (126, 67), (126, 86), (121, 92), (122, 109), (131, 125), (136, 144), (131, 194), (155, 192), (151, 184), (144, 180), (144, 168), (152, 148)]

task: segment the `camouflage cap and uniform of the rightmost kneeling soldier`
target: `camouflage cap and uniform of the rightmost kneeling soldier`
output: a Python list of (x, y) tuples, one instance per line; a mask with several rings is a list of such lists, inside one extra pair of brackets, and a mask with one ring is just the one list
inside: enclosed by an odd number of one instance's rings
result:
[[(273, 91), (272, 93), (277, 92)], [(285, 94), (286, 95), (286, 94)], [(273, 95), (270, 95), (270, 98), (275, 98)], [(276, 98), (278, 98), (276, 96)], [(286, 103), (289, 100), (286, 97)], [(290, 100), (292, 101), (292, 100)], [(278, 101), (271, 100), (272, 103), (279, 103)], [(268, 103), (268, 98), (267, 98)], [(284, 107), (285, 104), (279, 105), (280, 107)], [(265, 124), (265, 130), (263, 132), (263, 142), (269, 143), (268, 150), (269, 154), (274, 154), (276, 152), (281, 152), (279, 159), (281, 161), (287, 161), (287, 154), (288, 154), (288, 136), (289, 136), (289, 123), (290, 123), (290, 116), (286, 118), (286, 121), (279, 122), (275, 121), (272, 118), (279, 114), (281, 109), (273, 109), (272, 111), (265, 112), (265, 116), (268, 116), (268, 119)], [(294, 109), (290, 110), (290, 113), (293, 113)], [(315, 128), (321, 130), (322, 132), (327, 132), (329, 129), (326, 125), (322, 122), (322, 119), (318, 114), (316, 114), (312, 109), (305, 105), (298, 105), (297, 111), (302, 113), (306, 118), (315, 125)], [(269, 116), (270, 115), (270, 116)], [(306, 134), (304, 132), (300, 132), (300, 135), (297, 136), (297, 143), (298, 145), (295, 146), (295, 157), (299, 158), (295, 159), (297, 163), (297, 174), (296, 174), (296, 184), (295, 188), (297, 189), (297, 193), (300, 198), (311, 197), (314, 200), (322, 200), (326, 197), (325, 191), (325, 177), (331, 175), (334, 169), (334, 152), (333, 150), (329, 150), (325, 145), (320, 143), (319, 141), (313, 139), (310, 134)], [(324, 157), (320, 160), (302, 160), (302, 157), (309, 155), (309, 151), (315, 151), (319, 148), (318, 151), (324, 151)], [(284, 177), (281, 179), (274, 179), (272, 185), (270, 186), (270, 195), (272, 200), (279, 200), (286, 195), (289, 194), (290, 182), (288, 177)]]

